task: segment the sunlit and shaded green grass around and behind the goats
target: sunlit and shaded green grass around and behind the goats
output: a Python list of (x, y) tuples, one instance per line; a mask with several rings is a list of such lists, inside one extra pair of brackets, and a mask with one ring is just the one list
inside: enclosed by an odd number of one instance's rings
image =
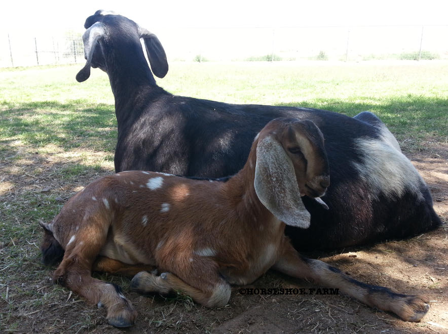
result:
[[(51, 220), (67, 198), (114, 171), (117, 123), (109, 82), (92, 70), (79, 84), (74, 76), (81, 67), (0, 70), (0, 331), (77, 332), (104, 325), (97, 310), (51, 285), (39, 253), (38, 222)], [(447, 74), (444, 61), (183, 62), (171, 64), (157, 81), (173, 94), (229, 103), (313, 107), (350, 116), (370, 110), (410, 152), (446, 143)], [(125, 290), (129, 284), (117, 276), (103, 278)], [(169, 300), (147, 315), (148, 324), (179, 329), (170, 321), (182, 321), (181, 314), (157, 315), (171, 312), (176, 303), (195, 307), (188, 298)], [(47, 315), (52, 308), (57, 311)], [(73, 309), (77, 319), (66, 325), (59, 315)], [(212, 324), (204, 320), (201, 326)]]

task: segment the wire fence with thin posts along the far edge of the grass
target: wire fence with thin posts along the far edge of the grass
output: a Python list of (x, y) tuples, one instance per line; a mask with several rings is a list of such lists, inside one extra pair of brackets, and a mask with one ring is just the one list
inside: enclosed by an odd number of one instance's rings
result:
[[(172, 28), (155, 33), (174, 61), (448, 59), (448, 25)], [(0, 46), (0, 67), (85, 61), (80, 32), (3, 33)]]

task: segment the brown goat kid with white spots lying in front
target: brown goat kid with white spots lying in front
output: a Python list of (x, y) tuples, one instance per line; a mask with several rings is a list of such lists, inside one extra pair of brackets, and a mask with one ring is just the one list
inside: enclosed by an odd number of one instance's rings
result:
[(133, 325), (136, 311), (117, 285), (92, 278), (92, 270), (135, 275), (131, 288), (141, 293), (176, 290), (221, 307), (230, 284), (251, 283), (272, 268), (419, 321), (429, 308), (420, 297), (358, 282), (291, 246), (285, 224), (310, 225), (301, 196), (319, 201), (328, 186), (320, 130), (311, 121), (278, 118), (257, 135), (244, 168), (226, 183), (141, 171), (92, 182), (52, 222), (41, 223), (44, 263), (65, 251), (54, 282), (106, 307), (117, 327)]

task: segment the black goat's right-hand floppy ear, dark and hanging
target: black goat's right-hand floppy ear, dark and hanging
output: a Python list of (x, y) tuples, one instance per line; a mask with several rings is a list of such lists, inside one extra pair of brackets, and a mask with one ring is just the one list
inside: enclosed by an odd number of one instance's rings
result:
[(138, 27), (140, 38), (143, 38), (146, 54), (150, 60), (151, 70), (159, 78), (163, 78), (168, 72), (168, 61), (166, 60), (165, 50), (159, 38), (145, 28)]

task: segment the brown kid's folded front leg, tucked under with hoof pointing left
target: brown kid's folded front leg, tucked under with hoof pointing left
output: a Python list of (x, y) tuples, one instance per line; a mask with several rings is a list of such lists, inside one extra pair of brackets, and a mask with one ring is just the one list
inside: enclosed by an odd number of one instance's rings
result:
[[(201, 277), (201, 275), (198, 274), (197, 277)], [(217, 275), (207, 282), (200, 282), (199, 285), (200, 288), (194, 287), (169, 272), (157, 276), (154, 272), (142, 271), (132, 278), (130, 287), (131, 290), (143, 294), (160, 293), (164, 295), (171, 291), (178, 291), (206, 307), (222, 307), (229, 302), (230, 285)]]

